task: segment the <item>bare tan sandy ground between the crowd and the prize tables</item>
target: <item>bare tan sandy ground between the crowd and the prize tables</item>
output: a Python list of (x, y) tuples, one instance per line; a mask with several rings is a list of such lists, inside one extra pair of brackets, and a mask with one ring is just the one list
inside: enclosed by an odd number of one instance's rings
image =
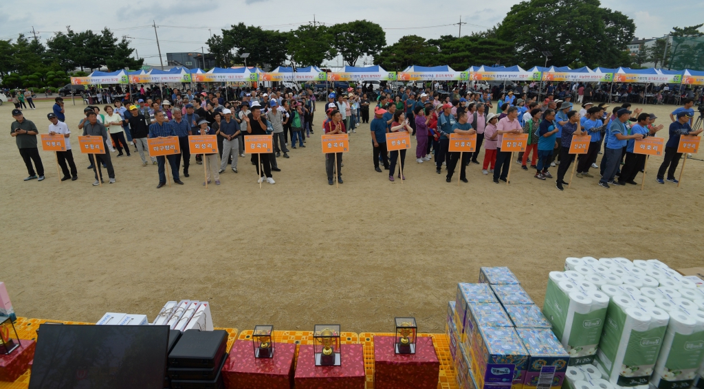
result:
[[(46, 132), (51, 103), (37, 106), (25, 115)], [(84, 106), (66, 106), (75, 145)], [(645, 112), (667, 125), (672, 109)], [(337, 189), (327, 185), (316, 115), (308, 147), (279, 158), (275, 185), (259, 189), (248, 156), (221, 186), (206, 190), (202, 165), (193, 165), (184, 186), (157, 190), (157, 167), (142, 167), (134, 153), (113, 154), (117, 183), (99, 188), (83, 155), (75, 155), (79, 179), (59, 182), (44, 151), (46, 180), (23, 181), (10, 111), (0, 107), (0, 281), (24, 317), (130, 312), (151, 321), (165, 301), (194, 299), (210, 301), (215, 326), (393, 331), (394, 316), (410, 315), (420, 331), (442, 332), (456, 284), (476, 282), (480, 266), (510, 267), (542, 305), (548, 272), (565, 257), (704, 263), (701, 160), (688, 161), (680, 188), (655, 182), (662, 158), (651, 158), (644, 191), (575, 177), (560, 192), (515, 163), (509, 186), (477, 165), (469, 184), (448, 184), (409, 153), (407, 181), (391, 183), (373, 169), (363, 125), (350, 136)]]

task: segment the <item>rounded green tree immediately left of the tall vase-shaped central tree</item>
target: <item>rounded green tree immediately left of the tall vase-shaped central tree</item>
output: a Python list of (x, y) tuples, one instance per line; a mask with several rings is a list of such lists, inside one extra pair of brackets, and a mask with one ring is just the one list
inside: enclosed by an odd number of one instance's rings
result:
[(333, 42), (334, 37), (329, 27), (300, 25), (291, 31), (289, 56), (300, 66), (320, 66), (322, 61), (337, 56)]

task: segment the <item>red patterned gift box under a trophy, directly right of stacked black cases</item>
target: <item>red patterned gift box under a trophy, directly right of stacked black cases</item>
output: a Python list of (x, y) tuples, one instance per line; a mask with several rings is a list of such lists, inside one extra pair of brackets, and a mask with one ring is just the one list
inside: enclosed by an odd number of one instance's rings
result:
[(296, 345), (275, 343), (273, 358), (255, 358), (252, 340), (237, 340), (230, 349), (222, 379), (228, 389), (290, 389)]

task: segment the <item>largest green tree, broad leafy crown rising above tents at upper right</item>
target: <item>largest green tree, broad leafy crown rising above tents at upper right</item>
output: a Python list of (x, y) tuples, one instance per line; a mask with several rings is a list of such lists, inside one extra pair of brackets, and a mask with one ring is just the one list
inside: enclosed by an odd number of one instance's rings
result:
[(635, 30), (633, 20), (599, 0), (528, 0), (511, 7), (496, 35), (514, 42), (520, 65), (543, 63), (541, 52), (550, 51), (554, 65), (615, 67)]

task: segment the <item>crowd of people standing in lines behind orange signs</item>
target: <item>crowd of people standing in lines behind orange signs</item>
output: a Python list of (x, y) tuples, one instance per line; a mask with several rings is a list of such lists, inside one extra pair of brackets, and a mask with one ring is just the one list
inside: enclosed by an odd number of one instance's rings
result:
[[(239, 157), (245, 156), (244, 136), (264, 134), (272, 135), (272, 152), (259, 157), (252, 154), (250, 162), (256, 166), (259, 182), (275, 184), (272, 172), (281, 171), (277, 158), (289, 158), (292, 150), (305, 148), (315, 130), (313, 118), (318, 99), (312, 89), (231, 89), (232, 94), (230, 91), (226, 94), (229, 99), (219, 90), (151, 89), (156, 90), (158, 94), (150, 94), (149, 89), (139, 90), (133, 95), (134, 101), (125, 96), (102, 107), (89, 105), (85, 108), (77, 129), (84, 136), (101, 136), (109, 151), (96, 155), (96, 160), (92, 155), (88, 158), (88, 169), (94, 170), (94, 185), (101, 184), (101, 167), (107, 170), (108, 181), (115, 182), (111, 153), (117, 153), (115, 158), (119, 158), (130, 157), (133, 152), (139, 153), (143, 167), (149, 165), (147, 158), (152, 165), (158, 165), (157, 188), (166, 184), (167, 163), (175, 184), (184, 184), (180, 177), (189, 177), (191, 160), (188, 137), (197, 135), (215, 135), (218, 139), (218, 153), (198, 154), (194, 159), (197, 164), (206, 164), (208, 173), (203, 185), (211, 180), (219, 185), (220, 174), (227, 170), (227, 165), (233, 173), (239, 172)], [(372, 91), (368, 91), (371, 94)], [(587, 153), (577, 158), (577, 177), (594, 177), (590, 169), (599, 169), (598, 184), (604, 188), (635, 184), (645, 157), (634, 153), (634, 141), (655, 136), (663, 127), (655, 124), (658, 117), (640, 109), (631, 110), (630, 103), (611, 108), (608, 103), (585, 101), (584, 94), (579, 94), (582, 103), (575, 105), (570, 94), (565, 94), (562, 100), (551, 93), (543, 101), (537, 101), (536, 96), (530, 97), (523, 90), (518, 93), (508, 90), (496, 96), (498, 102), (494, 106), (491, 91), (475, 91), (466, 84), (448, 89), (446, 94), (433, 91), (430, 85), (402, 87), (396, 91), (391, 91), (387, 85), (378, 95), (374, 94), (375, 98), (369, 98), (362, 87), (331, 88), (326, 93), (322, 132), (354, 134), (360, 125), (368, 123), (374, 169), (383, 172), (383, 165), (384, 170), (389, 171), (389, 181), (406, 179), (402, 173), (405, 172), (406, 150), (389, 152), (386, 134), (408, 132), (416, 139), (415, 161), (422, 164), (432, 160), (437, 174), (446, 171), (448, 182), (458, 165), (460, 181), (468, 182), (466, 168), (471, 164), (481, 164), (482, 173), (491, 174), (495, 183), (507, 182), (508, 166), (513, 161), (512, 153), (501, 151), (502, 138), (505, 134), (528, 134), (526, 150), (517, 153), (515, 162), (522, 170), (534, 170), (534, 177), (540, 180), (553, 179), (550, 168), (557, 167), (554, 177), (557, 189), (562, 190), (567, 184), (565, 173), (574, 162), (574, 154), (569, 153), (574, 135), (589, 135), (591, 139)], [(693, 99), (685, 98), (684, 106), (670, 115), (670, 140), (657, 177), (660, 184), (677, 182), (674, 170), (681, 158), (677, 153), (679, 136), (701, 132), (701, 129), (691, 128), (693, 103)], [(39, 130), (23, 117), (19, 108), (13, 110), (13, 117), (11, 134), (16, 137), (29, 173), (25, 181), (41, 181), (44, 168), (37, 151)], [(73, 125), (66, 122), (63, 98), (56, 98), (47, 118), (48, 132), (65, 136), (67, 150), (57, 153), (63, 180), (75, 180), (77, 168), (68, 139)], [(476, 151), (465, 153), (460, 160), (460, 153), (449, 151), (451, 134), (476, 134)], [(147, 139), (161, 136), (177, 136), (180, 153), (168, 157), (149, 155)], [(484, 158), (480, 162), (482, 147)], [(601, 165), (596, 164), (598, 154), (603, 154)], [(334, 184), (334, 171), (341, 184), (342, 154), (337, 158), (329, 154), (325, 158), (328, 184)]]

